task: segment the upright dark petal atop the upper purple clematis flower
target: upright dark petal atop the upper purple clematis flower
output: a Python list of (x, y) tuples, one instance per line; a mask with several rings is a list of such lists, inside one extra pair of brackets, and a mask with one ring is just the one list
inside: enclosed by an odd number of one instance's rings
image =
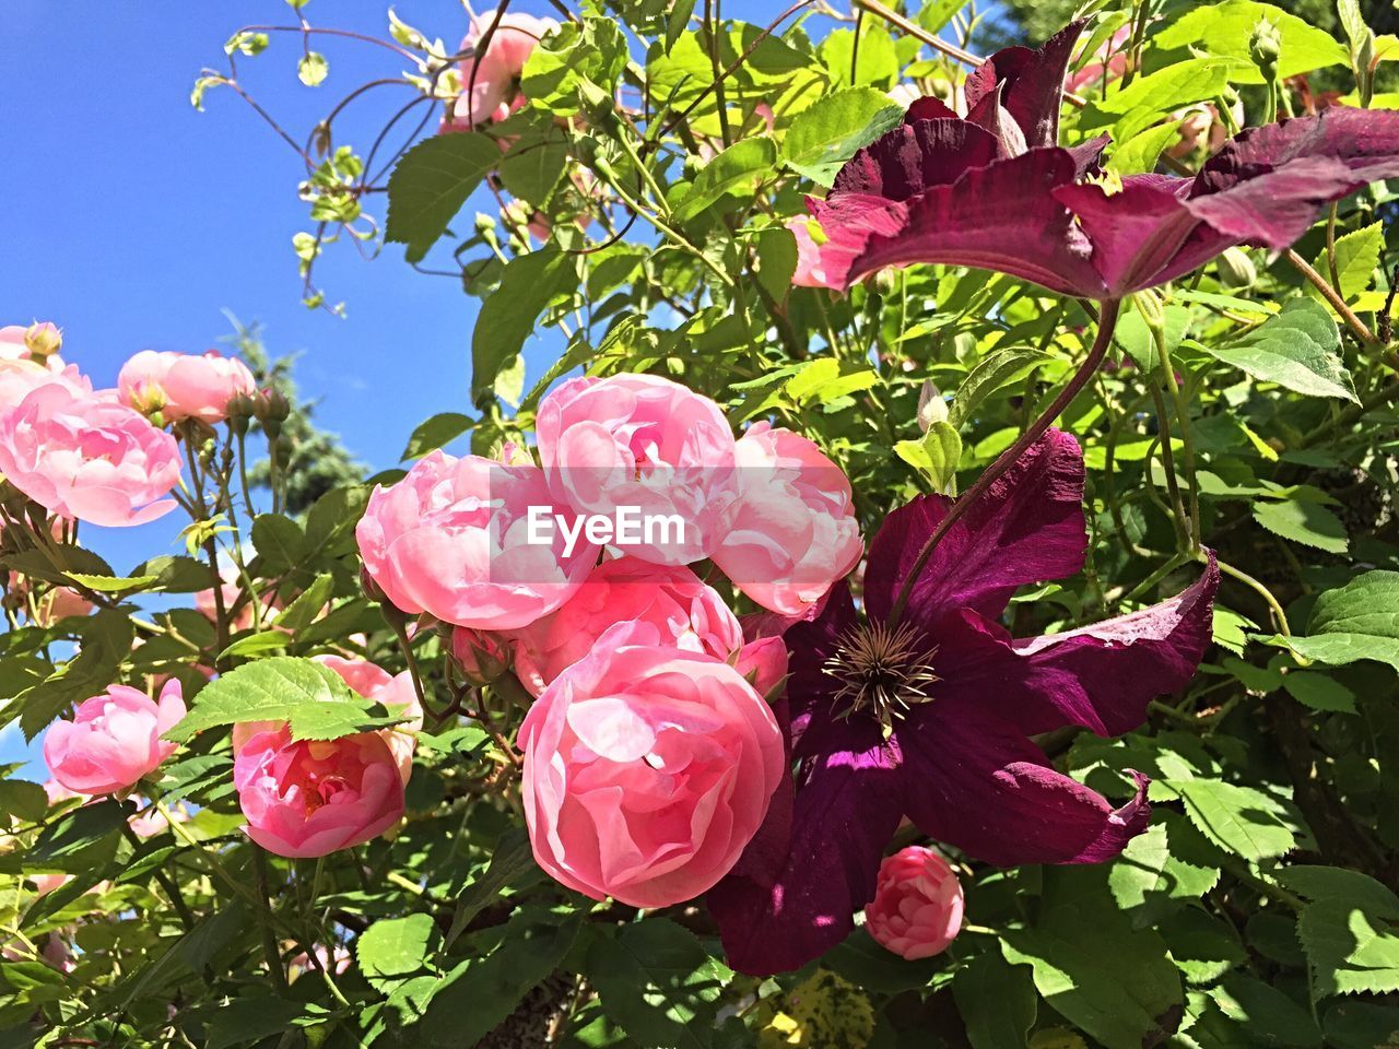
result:
[(1058, 145), (1063, 81), (1084, 22), (1070, 22), (1039, 48), (1002, 48), (967, 76), (968, 112), (1000, 88), (1000, 105), (1030, 147)]

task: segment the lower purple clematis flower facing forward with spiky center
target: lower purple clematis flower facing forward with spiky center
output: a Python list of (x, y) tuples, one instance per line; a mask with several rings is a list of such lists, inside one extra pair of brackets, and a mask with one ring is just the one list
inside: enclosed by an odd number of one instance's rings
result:
[(1030, 741), (1081, 726), (1137, 727), (1182, 688), (1210, 642), (1213, 557), (1168, 601), (1042, 638), (997, 622), (1014, 590), (1083, 568), (1083, 455), (1051, 429), (946, 534), (902, 618), (890, 610), (951, 505), (925, 495), (870, 545), (865, 620), (848, 586), (800, 620), (769, 621), (792, 652), (795, 776), (708, 897), (729, 962), (765, 975), (834, 947), (874, 895), (886, 845), (918, 828), (997, 866), (1098, 863), (1146, 828), (1146, 778), (1114, 808)]

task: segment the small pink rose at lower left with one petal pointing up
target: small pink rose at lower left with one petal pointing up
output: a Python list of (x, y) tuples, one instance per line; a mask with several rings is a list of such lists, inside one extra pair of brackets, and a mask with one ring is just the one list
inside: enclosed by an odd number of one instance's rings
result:
[(178, 744), (161, 736), (183, 716), (179, 681), (165, 684), (158, 704), (127, 685), (111, 685), (78, 704), (71, 722), (49, 726), (43, 759), (59, 783), (80, 794), (130, 790), (175, 752)]

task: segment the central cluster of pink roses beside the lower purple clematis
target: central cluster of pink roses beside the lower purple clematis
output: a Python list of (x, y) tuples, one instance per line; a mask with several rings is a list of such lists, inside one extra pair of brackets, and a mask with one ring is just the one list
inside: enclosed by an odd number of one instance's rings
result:
[[(806, 438), (760, 422), (734, 439), (718, 404), (651, 375), (564, 382), (536, 438), (537, 463), (434, 452), (376, 488), (365, 569), (399, 610), (455, 625), (469, 676), (513, 666), (537, 697), (519, 747), (540, 866), (595, 898), (691, 899), (733, 867), (782, 779), (765, 695), (788, 653), (744, 643), (688, 565), (806, 611), (862, 554), (849, 481)], [(683, 527), (609, 545), (592, 524), (625, 508)]]

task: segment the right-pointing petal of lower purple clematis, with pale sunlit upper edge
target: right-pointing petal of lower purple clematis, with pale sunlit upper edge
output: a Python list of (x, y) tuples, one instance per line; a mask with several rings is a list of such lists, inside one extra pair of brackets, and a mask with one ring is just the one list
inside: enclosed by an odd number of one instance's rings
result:
[(1076, 631), (1013, 641), (964, 610), (937, 632), (939, 702), (967, 704), (1025, 734), (1077, 725), (1098, 736), (1132, 732), (1150, 699), (1185, 687), (1210, 643), (1220, 573), (1150, 608)]

